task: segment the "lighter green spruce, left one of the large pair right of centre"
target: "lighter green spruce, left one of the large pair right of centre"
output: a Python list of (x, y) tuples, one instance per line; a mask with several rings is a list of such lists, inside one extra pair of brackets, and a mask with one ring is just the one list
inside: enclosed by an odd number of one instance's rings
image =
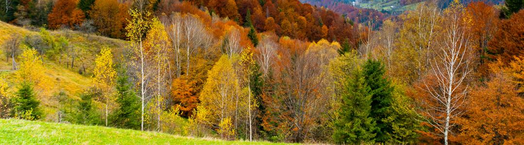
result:
[(350, 144), (373, 142), (375, 122), (369, 116), (372, 93), (361, 70), (354, 70), (344, 88), (337, 112), (339, 119), (334, 122), (333, 140), (336, 143)]

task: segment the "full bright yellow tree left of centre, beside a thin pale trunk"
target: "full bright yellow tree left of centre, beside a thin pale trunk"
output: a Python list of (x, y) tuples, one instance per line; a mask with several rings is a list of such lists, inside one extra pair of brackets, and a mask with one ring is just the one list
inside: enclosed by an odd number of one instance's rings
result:
[[(232, 119), (230, 121), (233, 122), (233, 127), (236, 129), (237, 123), (245, 114), (247, 107), (246, 103), (239, 102), (239, 100), (245, 100), (245, 95), (242, 95), (239, 80), (233, 68), (233, 59), (238, 59), (238, 55), (234, 55), (233, 58), (222, 55), (209, 71), (208, 80), (200, 94), (200, 106), (210, 111), (209, 116), (206, 117), (209, 118), (211, 126), (217, 127), (213, 129), (216, 129), (219, 133), (226, 129), (220, 125), (225, 122), (224, 119), (226, 118)], [(231, 139), (230, 132), (221, 134), (221, 137)]]

